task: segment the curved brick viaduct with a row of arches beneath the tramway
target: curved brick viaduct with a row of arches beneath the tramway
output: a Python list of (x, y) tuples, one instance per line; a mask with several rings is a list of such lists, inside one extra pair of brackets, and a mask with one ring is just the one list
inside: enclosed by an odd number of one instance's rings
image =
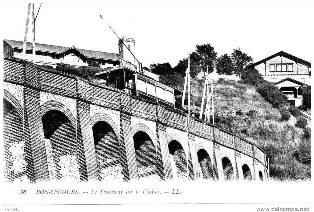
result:
[(254, 144), (114, 88), (3, 60), (4, 178), (266, 180)]

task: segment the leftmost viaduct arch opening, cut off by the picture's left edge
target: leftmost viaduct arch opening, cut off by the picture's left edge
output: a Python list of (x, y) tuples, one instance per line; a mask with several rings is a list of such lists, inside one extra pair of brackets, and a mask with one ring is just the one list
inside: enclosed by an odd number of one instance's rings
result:
[(29, 182), (23, 129), (18, 111), (3, 99), (3, 177), (7, 182)]

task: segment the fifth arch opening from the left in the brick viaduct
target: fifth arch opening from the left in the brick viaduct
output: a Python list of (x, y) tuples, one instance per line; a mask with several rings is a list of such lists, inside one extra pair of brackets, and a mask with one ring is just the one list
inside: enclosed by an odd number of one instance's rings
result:
[(172, 140), (168, 144), (173, 180), (185, 181), (188, 179), (187, 157), (181, 144)]

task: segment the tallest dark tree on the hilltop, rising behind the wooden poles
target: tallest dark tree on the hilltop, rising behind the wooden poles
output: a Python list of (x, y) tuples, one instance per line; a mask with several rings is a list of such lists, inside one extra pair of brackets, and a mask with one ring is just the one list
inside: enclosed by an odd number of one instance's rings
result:
[(199, 59), (199, 65), (201, 68), (208, 66), (208, 71), (211, 73), (214, 71), (214, 64), (217, 59), (217, 53), (214, 51), (214, 47), (212, 45), (203, 44), (196, 45), (196, 53)]

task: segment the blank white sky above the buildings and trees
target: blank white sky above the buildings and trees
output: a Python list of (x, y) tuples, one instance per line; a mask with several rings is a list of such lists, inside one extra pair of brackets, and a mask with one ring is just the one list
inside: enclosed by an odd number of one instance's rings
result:
[[(40, 3), (35, 3), (37, 12)], [(24, 40), (27, 3), (3, 4), (3, 39)], [(36, 43), (118, 52), (135, 37), (135, 56), (177, 62), (210, 43), (218, 56), (240, 47), (259, 61), (281, 50), (311, 62), (311, 4), (48, 4), (36, 20)], [(36, 14), (35, 14), (36, 15)], [(32, 26), (28, 30), (32, 41)]]

